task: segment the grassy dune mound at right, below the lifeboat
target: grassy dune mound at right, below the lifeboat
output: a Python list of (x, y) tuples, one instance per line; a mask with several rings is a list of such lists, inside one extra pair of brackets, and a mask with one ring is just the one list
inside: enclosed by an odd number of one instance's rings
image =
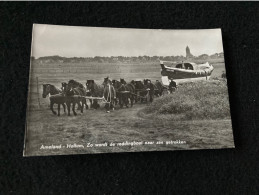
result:
[(138, 114), (174, 121), (230, 119), (226, 80), (186, 83), (173, 94), (155, 99)]

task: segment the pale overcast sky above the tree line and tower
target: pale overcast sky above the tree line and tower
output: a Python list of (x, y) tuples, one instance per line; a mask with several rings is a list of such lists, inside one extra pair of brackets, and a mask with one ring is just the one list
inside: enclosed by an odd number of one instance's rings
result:
[(34, 24), (32, 56), (195, 56), (223, 52), (220, 29), (146, 30)]

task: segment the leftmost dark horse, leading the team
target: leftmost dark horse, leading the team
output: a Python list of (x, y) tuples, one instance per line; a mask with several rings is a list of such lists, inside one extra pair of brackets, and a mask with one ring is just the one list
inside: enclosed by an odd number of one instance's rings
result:
[(64, 96), (64, 94), (62, 94), (62, 91), (58, 88), (56, 88), (54, 85), (51, 84), (43, 84), (43, 93), (42, 93), (42, 97), (46, 98), (47, 95), (50, 94), (50, 109), (53, 112), (53, 114), (57, 114), (54, 110), (53, 110), (53, 105), (57, 104), (58, 105), (58, 116), (60, 116), (60, 104), (62, 104), (63, 108), (64, 108), (64, 113), (66, 113), (66, 97)]

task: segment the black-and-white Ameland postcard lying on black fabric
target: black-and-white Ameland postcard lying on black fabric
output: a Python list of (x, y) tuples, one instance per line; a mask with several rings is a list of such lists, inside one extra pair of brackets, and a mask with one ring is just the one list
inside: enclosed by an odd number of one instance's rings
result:
[(34, 24), (24, 156), (234, 148), (220, 29)]

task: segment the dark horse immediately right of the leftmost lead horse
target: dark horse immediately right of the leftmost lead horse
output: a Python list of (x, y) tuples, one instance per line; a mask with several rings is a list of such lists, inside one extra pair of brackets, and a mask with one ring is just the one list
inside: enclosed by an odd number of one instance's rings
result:
[(80, 104), (82, 101), (82, 92), (80, 89), (73, 88), (72, 84), (62, 83), (62, 89), (63, 93), (66, 97), (66, 104), (67, 104), (67, 110), (68, 110), (68, 116), (70, 116), (70, 107), (72, 104), (72, 111), (74, 115), (76, 116), (77, 113), (75, 111), (75, 105), (77, 104), (78, 107), (81, 110), (81, 113), (83, 113), (83, 106)]

